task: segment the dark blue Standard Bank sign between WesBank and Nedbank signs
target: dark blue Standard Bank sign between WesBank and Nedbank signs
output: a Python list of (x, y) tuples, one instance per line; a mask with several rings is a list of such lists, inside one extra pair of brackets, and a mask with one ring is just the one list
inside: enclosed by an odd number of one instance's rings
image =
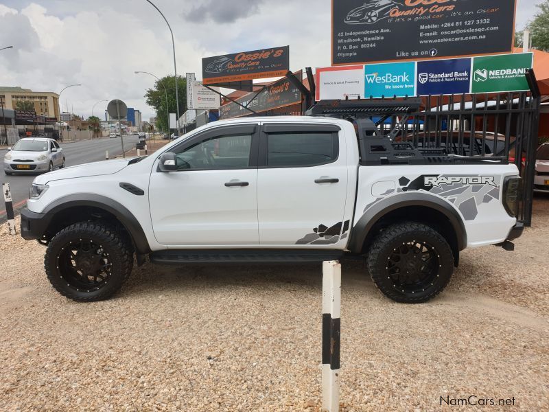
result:
[(470, 87), (470, 58), (417, 63), (417, 95), (469, 93)]

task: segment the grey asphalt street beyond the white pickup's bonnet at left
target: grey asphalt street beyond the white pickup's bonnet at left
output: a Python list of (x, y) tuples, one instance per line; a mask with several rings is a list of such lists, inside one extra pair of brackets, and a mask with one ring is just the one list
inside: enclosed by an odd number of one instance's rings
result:
[[(124, 136), (124, 151), (135, 148), (137, 140), (137, 135)], [(110, 159), (113, 159), (117, 155), (121, 155), (122, 152), (119, 137), (116, 139), (106, 138), (75, 141), (74, 143), (60, 143), (60, 146), (63, 148), (63, 152), (65, 152), (67, 167), (95, 161), (104, 161), (105, 150), (108, 150)], [(6, 152), (8, 152), (8, 150), (0, 150), (0, 161), (3, 162)], [(21, 207), (25, 206), (26, 201), (29, 198), (29, 187), (35, 177), (36, 174), (6, 176), (3, 169), (0, 171), (0, 183), (10, 183), (16, 214)], [(0, 198), (0, 223), (4, 221), (5, 207), (2, 196)]]

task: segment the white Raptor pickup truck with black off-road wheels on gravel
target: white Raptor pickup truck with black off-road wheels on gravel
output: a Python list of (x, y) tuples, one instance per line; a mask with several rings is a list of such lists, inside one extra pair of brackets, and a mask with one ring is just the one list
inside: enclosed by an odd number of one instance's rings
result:
[(47, 277), (75, 301), (110, 297), (147, 256), (185, 264), (354, 255), (387, 297), (418, 303), (445, 288), (466, 247), (513, 249), (524, 227), (515, 165), (428, 155), (368, 125), (233, 119), (148, 157), (47, 173), (32, 184), (21, 233), (47, 245)]

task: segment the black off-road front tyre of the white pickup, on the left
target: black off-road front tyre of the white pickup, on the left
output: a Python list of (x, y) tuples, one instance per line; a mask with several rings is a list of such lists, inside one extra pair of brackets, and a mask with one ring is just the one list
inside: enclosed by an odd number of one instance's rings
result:
[[(65, 249), (70, 244), (77, 243), (82, 239), (100, 244), (102, 249), (108, 252), (108, 259), (112, 265), (108, 282), (105, 282), (97, 290), (77, 288), (64, 279), (64, 276), (67, 279), (71, 276), (74, 277), (74, 273), (70, 271), (63, 273), (64, 269), (60, 264), (62, 253), (66, 253)], [(62, 229), (49, 242), (44, 266), (51, 286), (54, 286), (61, 295), (79, 302), (100, 301), (117, 293), (132, 272), (132, 247), (128, 237), (110, 225), (102, 222), (79, 222)]]

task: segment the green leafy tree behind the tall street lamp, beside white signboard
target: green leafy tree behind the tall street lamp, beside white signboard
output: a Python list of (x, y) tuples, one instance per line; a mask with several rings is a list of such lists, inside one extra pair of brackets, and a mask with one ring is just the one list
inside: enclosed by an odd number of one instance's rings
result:
[[(187, 80), (178, 76), (178, 91), (179, 91), (179, 112), (177, 117), (179, 118), (185, 111), (187, 111)], [(167, 89), (168, 108), (166, 110), (166, 94), (164, 87)], [(148, 89), (145, 93), (147, 104), (156, 110), (156, 127), (165, 132), (170, 127), (167, 124), (167, 113), (176, 113), (176, 86), (175, 76), (166, 76), (154, 83), (154, 89)]]

